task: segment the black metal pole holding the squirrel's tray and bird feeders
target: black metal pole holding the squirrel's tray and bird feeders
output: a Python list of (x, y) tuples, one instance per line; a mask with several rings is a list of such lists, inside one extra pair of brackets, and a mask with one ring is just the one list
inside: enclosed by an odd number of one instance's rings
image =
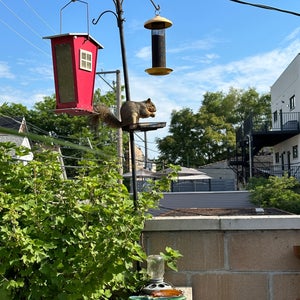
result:
[[(124, 74), (124, 85), (125, 85), (125, 95), (126, 101), (130, 101), (130, 89), (129, 89), (129, 80), (128, 80), (128, 68), (126, 60), (126, 50), (125, 50), (125, 41), (124, 41), (124, 32), (123, 32), (123, 9), (120, 0), (114, 0), (116, 4), (116, 12), (118, 16), (118, 28), (120, 34), (120, 43), (121, 43), (121, 54), (122, 54), (122, 64), (123, 64), (123, 74)], [(136, 160), (135, 160), (135, 143), (134, 143), (134, 131), (129, 130), (129, 139), (130, 139), (130, 154), (131, 154), (131, 174), (132, 174), (132, 192), (133, 192), (133, 204), (135, 209), (137, 209), (137, 186), (136, 186)]]

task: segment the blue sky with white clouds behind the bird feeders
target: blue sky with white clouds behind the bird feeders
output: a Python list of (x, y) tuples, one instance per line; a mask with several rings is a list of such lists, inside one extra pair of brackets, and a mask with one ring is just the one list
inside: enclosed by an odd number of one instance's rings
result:
[[(116, 19), (105, 14), (95, 26), (92, 19), (114, 10), (113, 0), (86, 0), (87, 6), (61, 0), (0, 0), (0, 105), (27, 107), (54, 93), (50, 41), (45, 36), (89, 32), (104, 46), (98, 53), (97, 71), (122, 70)], [(148, 97), (156, 103), (164, 129), (149, 132), (148, 155), (157, 156), (155, 138), (168, 133), (172, 110), (195, 112), (207, 91), (227, 92), (230, 87), (269, 92), (270, 86), (300, 50), (300, 18), (230, 0), (155, 0), (160, 15), (173, 26), (166, 30), (168, 76), (150, 76), (151, 36), (144, 22), (155, 15), (150, 0), (124, 0), (123, 9), (129, 83), (132, 100)], [(252, 3), (300, 12), (296, 0), (255, 0)], [(62, 21), (62, 22), (61, 22)], [(89, 26), (87, 25), (87, 21)], [(113, 75), (105, 77), (114, 80)], [(96, 87), (109, 87), (100, 78)], [(141, 135), (141, 139), (143, 135)], [(137, 145), (144, 146), (141, 139)]]

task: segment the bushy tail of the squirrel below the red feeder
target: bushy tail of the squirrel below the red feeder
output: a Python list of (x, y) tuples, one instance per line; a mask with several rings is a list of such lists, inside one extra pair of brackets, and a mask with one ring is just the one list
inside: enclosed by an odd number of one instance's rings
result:
[(94, 130), (97, 130), (99, 127), (100, 121), (108, 124), (113, 128), (121, 128), (122, 123), (119, 121), (114, 114), (110, 111), (110, 109), (104, 104), (97, 104), (94, 106), (94, 112), (90, 117), (91, 126)]

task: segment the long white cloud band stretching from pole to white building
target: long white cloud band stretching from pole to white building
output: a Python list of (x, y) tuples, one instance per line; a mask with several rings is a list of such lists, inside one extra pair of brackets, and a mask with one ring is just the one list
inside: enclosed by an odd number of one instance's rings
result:
[[(132, 100), (150, 97), (157, 106), (157, 116), (149, 122), (167, 122), (164, 129), (148, 133), (150, 148), (156, 149), (151, 144), (156, 137), (162, 138), (168, 134), (172, 110), (188, 107), (196, 112), (205, 92), (228, 92), (230, 87), (245, 90), (254, 87), (259, 93), (270, 92), (270, 87), (295, 58), (299, 49), (300, 40), (297, 39), (286, 47), (198, 71), (189, 72), (190, 66), (186, 65), (174, 69), (167, 76), (131, 76)], [(214, 59), (215, 56), (208, 58)], [(192, 67), (195, 69), (195, 66)], [(155, 156), (153, 154), (152, 158)]]

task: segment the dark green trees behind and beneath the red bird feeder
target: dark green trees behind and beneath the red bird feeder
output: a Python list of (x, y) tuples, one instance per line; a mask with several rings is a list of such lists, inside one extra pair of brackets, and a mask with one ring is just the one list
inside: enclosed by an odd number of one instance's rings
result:
[[(34, 104), (28, 110), (21, 104), (3, 104), (0, 106), (0, 114), (11, 117), (25, 117), (30, 133), (52, 136), (57, 139), (67, 140), (82, 146), (98, 149), (109, 155), (117, 155), (117, 131), (105, 124), (99, 123), (92, 130), (90, 116), (71, 116), (65, 113), (55, 112), (55, 96), (44, 97), (43, 101)], [(115, 92), (101, 95), (97, 89), (94, 93), (94, 103), (102, 102), (107, 106), (113, 106), (116, 102)], [(127, 147), (128, 137), (123, 135), (124, 149)], [(78, 162), (82, 158), (82, 151), (70, 147), (61, 147), (64, 156), (68, 176), (77, 174)]]

